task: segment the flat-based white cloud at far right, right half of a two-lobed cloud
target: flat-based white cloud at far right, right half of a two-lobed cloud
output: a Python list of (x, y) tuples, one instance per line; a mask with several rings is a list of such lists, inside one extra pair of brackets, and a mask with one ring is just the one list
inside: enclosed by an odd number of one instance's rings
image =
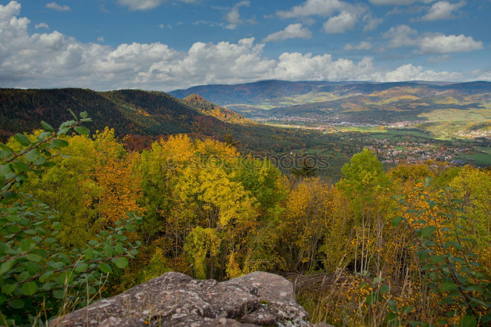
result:
[(475, 41), (472, 36), (461, 34), (425, 36), (421, 40), (420, 49), (425, 53), (450, 53), (468, 52), (484, 48), (481, 41)]

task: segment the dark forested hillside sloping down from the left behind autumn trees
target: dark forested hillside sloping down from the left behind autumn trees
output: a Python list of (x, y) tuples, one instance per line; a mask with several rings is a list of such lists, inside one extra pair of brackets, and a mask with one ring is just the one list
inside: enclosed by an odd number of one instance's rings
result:
[(195, 138), (238, 142), (243, 153), (283, 155), (312, 149), (332, 153), (332, 169), (339, 176), (342, 164), (363, 144), (346, 143), (340, 135), (325, 135), (312, 129), (280, 128), (252, 122), (200, 96), (176, 99), (164, 92), (119, 90), (94, 92), (82, 89), (16, 90), (0, 89), (0, 139), (17, 132), (32, 131), (44, 119), (56, 126), (75, 113), (87, 111), (92, 130), (114, 128), (133, 149), (149, 148), (161, 136), (187, 133)]

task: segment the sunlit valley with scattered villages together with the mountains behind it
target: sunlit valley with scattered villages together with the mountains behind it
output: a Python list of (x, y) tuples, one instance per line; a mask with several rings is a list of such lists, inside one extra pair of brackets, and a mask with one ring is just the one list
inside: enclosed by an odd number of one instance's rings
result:
[[(262, 81), (169, 94), (189, 92), (268, 126), (337, 136), (359, 150), (368, 146), (387, 166), (428, 159), (491, 164), (491, 82)], [(306, 151), (335, 158), (344, 150)]]

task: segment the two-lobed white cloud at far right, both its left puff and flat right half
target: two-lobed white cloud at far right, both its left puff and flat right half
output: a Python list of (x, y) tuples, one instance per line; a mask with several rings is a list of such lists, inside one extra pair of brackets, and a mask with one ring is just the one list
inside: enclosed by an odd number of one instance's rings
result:
[(444, 35), (442, 33), (419, 33), (408, 25), (391, 27), (382, 35), (389, 39), (389, 48), (416, 46), (420, 53), (451, 53), (481, 50), (482, 41), (476, 41), (472, 36)]

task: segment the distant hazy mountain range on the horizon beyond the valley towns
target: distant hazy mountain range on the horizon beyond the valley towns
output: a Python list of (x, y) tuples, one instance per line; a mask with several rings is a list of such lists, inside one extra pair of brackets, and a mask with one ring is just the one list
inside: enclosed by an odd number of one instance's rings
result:
[[(348, 120), (387, 116), (391, 120), (399, 120), (424, 118), (425, 112), (441, 109), (489, 109), (491, 82), (270, 80), (237, 85), (201, 85), (169, 92), (177, 98), (193, 93), (246, 116), (342, 114), (343, 119)], [(419, 116), (421, 114), (423, 116)]]

